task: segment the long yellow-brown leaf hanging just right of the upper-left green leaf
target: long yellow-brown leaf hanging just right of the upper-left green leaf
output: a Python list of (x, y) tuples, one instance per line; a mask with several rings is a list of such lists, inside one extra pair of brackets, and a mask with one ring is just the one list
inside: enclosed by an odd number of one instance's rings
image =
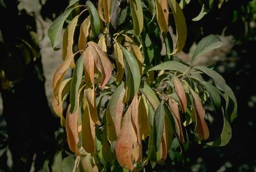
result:
[[(63, 44), (62, 44), (62, 58), (63, 60), (68, 59), (69, 56), (73, 55), (73, 37), (78, 21), (78, 17), (72, 19), (71, 23), (66, 28), (64, 35), (63, 35)], [(75, 68), (75, 61), (72, 60), (70, 64), (71, 68)]]

